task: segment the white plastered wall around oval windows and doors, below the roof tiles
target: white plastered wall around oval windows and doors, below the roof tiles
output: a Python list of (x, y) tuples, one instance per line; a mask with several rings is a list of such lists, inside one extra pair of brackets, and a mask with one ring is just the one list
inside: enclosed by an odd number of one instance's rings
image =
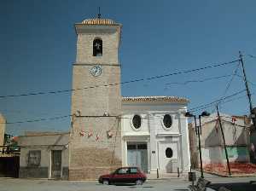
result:
[[(160, 142), (165, 142), (166, 147), (172, 147), (173, 142), (176, 142), (178, 167), (180, 171), (189, 171), (189, 131), (187, 119), (183, 117), (184, 111), (186, 111), (185, 104), (157, 101), (123, 102), (121, 121), (123, 165), (127, 165), (127, 141), (148, 142), (148, 169), (151, 173), (160, 169), (161, 163), (164, 163), (162, 158), (166, 153), (163, 153), (164, 148), (160, 151)], [(142, 126), (138, 130), (132, 127), (132, 118), (135, 114), (142, 117)], [(170, 128), (166, 128), (163, 124), (165, 114), (172, 116)]]

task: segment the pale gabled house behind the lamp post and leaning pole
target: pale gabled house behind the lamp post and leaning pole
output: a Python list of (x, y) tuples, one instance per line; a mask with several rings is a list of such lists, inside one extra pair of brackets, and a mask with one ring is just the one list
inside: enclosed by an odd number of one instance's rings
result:
[[(230, 162), (249, 162), (250, 120), (246, 117), (223, 113), (220, 114), (220, 118)], [(189, 124), (189, 139), (191, 139), (190, 144), (193, 144), (190, 145), (191, 163), (197, 166), (199, 164), (198, 137), (195, 135), (194, 122)], [(224, 142), (217, 113), (201, 118), (201, 153), (203, 165), (226, 164)]]

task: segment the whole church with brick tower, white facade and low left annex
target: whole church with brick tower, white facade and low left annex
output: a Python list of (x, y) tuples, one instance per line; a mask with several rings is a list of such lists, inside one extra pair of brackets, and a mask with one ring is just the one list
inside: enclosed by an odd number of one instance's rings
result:
[(75, 24), (70, 131), (20, 136), (20, 177), (89, 180), (120, 166), (189, 171), (189, 100), (121, 96), (121, 27), (100, 16)]

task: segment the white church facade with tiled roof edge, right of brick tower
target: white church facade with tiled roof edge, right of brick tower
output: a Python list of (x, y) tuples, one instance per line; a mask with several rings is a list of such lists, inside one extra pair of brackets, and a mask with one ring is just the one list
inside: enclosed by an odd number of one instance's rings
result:
[[(189, 171), (189, 131), (183, 116), (188, 102), (172, 96), (123, 97), (122, 165), (137, 165), (147, 173)], [(135, 115), (141, 118), (139, 128), (133, 124)], [(172, 118), (170, 127), (165, 115)]]

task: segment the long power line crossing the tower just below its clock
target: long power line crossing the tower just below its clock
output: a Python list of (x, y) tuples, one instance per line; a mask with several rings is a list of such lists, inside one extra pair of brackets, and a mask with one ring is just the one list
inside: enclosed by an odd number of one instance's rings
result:
[(76, 91), (76, 90), (88, 90), (88, 89), (99, 88), (99, 87), (109, 87), (109, 86), (119, 85), (119, 84), (131, 84), (131, 83), (142, 82), (142, 81), (147, 81), (147, 80), (148, 81), (149, 80), (154, 80), (154, 79), (158, 79), (158, 78), (166, 78), (166, 77), (169, 77), (169, 76), (184, 74), (184, 73), (189, 73), (189, 72), (198, 72), (198, 71), (205, 70), (205, 69), (208, 69), (208, 68), (213, 68), (213, 67), (224, 67), (226, 65), (233, 64), (236, 61), (239, 61), (239, 60), (228, 61), (228, 62), (224, 62), (224, 63), (221, 63), (221, 64), (209, 65), (207, 67), (200, 67), (200, 68), (195, 68), (195, 69), (186, 70), (186, 71), (172, 72), (172, 73), (168, 73), (168, 74), (165, 74), (165, 75), (154, 76), (154, 77), (149, 77), (149, 78), (138, 78), (138, 79), (133, 79), (133, 80), (125, 81), (125, 82), (121, 82), (121, 83), (94, 85), (94, 86), (89, 86), (89, 87), (84, 87), (84, 88), (77, 88), (77, 89), (70, 89), (70, 90), (30, 92), (30, 93), (19, 94), (19, 95), (0, 96), (0, 98), (3, 99), (3, 98), (20, 97), (20, 96), (38, 96), (38, 95), (48, 95), (48, 94), (60, 94), (60, 93), (67, 93), (67, 92)]

